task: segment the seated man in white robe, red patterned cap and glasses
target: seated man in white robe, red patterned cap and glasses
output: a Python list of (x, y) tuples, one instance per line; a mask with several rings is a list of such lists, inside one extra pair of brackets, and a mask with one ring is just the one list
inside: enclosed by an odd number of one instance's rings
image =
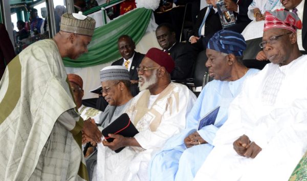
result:
[(307, 56), (296, 14), (266, 12), (261, 47), (272, 63), (248, 78), (194, 180), (288, 180), (307, 148)]

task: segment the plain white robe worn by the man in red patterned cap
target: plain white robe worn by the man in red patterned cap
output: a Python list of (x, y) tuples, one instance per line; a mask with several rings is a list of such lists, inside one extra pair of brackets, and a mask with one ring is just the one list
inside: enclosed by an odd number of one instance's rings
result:
[[(303, 55), (247, 79), (194, 180), (288, 180), (307, 148), (306, 70)], [(243, 134), (262, 148), (255, 159), (233, 149)]]

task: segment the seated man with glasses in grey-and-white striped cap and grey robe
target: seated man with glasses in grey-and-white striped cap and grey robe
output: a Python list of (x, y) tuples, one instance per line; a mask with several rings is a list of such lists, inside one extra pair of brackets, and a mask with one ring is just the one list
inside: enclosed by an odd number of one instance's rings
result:
[[(100, 81), (102, 85), (102, 95), (106, 102), (108, 102), (108, 105), (98, 121), (98, 128), (102, 130), (102, 128), (106, 127), (126, 112), (133, 96), (130, 93), (129, 71), (124, 66), (112, 65), (104, 67), (100, 71)], [(86, 141), (91, 140), (83, 138), (83, 143)], [(93, 143), (93, 145), (96, 145), (96, 143)], [(93, 150), (89, 149), (86, 156), (92, 152)], [(92, 153), (90, 157), (87, 157), (85, 161), (91, 180), (94, 167), (97, 163), (97, 151)]]

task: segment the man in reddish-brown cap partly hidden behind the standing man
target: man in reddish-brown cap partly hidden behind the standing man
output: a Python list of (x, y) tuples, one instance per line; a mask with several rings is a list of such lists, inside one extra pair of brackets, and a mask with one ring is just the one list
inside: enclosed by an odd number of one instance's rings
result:
[(84, 95), (82, 78), (77, 74), (68, 74), (67, 77), (74, 95), (76, 108), (78, 109), (80, 116), (83, 118), (83, 120), (92, 118), (96, 123), (99, 123), (102, 111), (93, 107), (86, 107), (82, 104), (82, 97)]

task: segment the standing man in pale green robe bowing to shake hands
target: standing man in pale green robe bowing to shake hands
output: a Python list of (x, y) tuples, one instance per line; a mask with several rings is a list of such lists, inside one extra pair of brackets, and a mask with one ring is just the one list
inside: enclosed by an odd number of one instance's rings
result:
[(77, 114), (62, 58), (86, 53), (94, 27), (91, 17), (65, 13), (53, 39), (8, 64), (0, 82), (1, 180), (88, 180), (81, 131), (97, 142), (101, 133)]

